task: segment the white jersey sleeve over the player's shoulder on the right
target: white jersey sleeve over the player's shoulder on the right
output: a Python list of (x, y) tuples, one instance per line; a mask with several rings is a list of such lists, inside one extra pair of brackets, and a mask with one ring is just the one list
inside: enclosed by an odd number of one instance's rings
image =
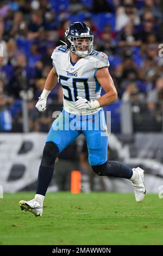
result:
[(92, 51), (90, 56), (96, 58), (95, 68), (101, 69), (109, 66), (108, 56), (104, 52)]

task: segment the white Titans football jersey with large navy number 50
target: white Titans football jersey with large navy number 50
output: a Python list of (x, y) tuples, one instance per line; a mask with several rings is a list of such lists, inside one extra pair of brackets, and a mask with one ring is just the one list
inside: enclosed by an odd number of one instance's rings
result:
[(60, 45), (54, 49), (51, 58), (58, 74), (58, 82), (62, 86), (65, 111), (77, 115), (98, 112), (101, 108), (79, 110), (74, 107), (74, 102), (78, 100), (77, 96), (88, 101), (101, 96), (101, 85), (96, 79), (96, 71), (109, 66), (108, 56), (103, 52), (92, 51), (73, 66), (70, 51), (66, 46)]

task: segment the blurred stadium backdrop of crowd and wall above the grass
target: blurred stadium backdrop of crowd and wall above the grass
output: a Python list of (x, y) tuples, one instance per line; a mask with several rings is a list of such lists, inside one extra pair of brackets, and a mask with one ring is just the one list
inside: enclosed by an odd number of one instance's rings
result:
[[(52, 113), (62, 110), (61, 86), (57, 84), (48, 96), (45, 113), (39, 113), (35, 103), (52, 68), (51, 54), (75, 21), (92, 29), (94, 49), (108, 55), (118, 91), (118, 100), (105, 107), (111, 111), (108, 159), (145, 169), (147, 191), (159, 192), (163, 184), (162, 10), (158, 0), (1, 0), (0, 185), (4, 192), (35, 191)], [(83, 192), (133, 191), (127, 180), (92, 173), (82, 136), (58, 157), (48, 191), (70, 191), (72, 170), (82, 173)]]

